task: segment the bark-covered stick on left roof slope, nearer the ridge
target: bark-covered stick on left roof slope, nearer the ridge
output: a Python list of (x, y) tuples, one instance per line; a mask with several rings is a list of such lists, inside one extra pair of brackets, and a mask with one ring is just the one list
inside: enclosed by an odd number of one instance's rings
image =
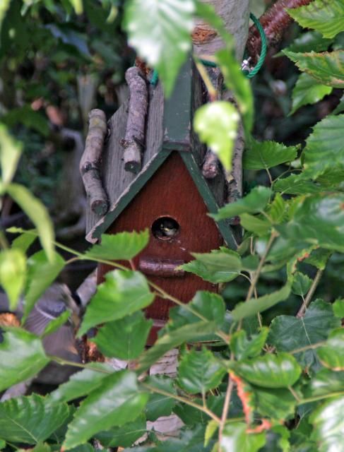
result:
[(145, 143), (145, 124), (148, 109), (148, 88), (141, 69), (137, 66), (126, 71), (129, 86), (129, 114), (126, 136), (121, 140), (124, 148), (124, 168), (135, 174), (141, 170), (141, 152)]

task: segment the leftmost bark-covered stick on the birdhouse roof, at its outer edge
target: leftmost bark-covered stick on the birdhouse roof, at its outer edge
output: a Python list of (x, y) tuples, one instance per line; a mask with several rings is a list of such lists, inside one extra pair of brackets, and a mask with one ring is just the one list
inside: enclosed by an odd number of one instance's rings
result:
[(90, 208), (97, 215), (104, 215), (107, 212), (108, 200), (102, 186), (100, 162), (107, 134), (107, 121), (105, 113), (100, 109), (91, 110), (88, 118), (88, 136), (85, 151), (81, 157), (80, 171), (86, 194), (90, 199)]

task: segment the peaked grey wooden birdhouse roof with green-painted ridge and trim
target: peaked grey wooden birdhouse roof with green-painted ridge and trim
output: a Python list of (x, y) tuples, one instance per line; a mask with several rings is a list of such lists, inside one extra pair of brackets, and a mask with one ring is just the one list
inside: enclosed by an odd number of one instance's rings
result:
[[(174, 93), (164, 100), (162, 86), (150, 85), (146, 120), (146, 149), (142, 169), (138, 174), (126, 171), (120, 141), (126, 131), (129, 102), (125, 102), (109, 119), (110, 136), (103, 150), (102, 184), (109, 197), (109, 210), (99, 216), (87, 208), (86, 239), (96, 242), (119, 214), (129, 205), (138, 191), (158, 170), (172, 151), (177, 151), (191, 174), (210, 213), (223, 206), (226, 192), (225, 176), (219, 172), (215, 179), (205, 179), (201, 171), (206, 147), (198, 141), (191, 124), (195, 110), (203, 105), (203, 85), (189, 59), (179, 73)], [(237, 246), (229, 222), (218, 222), (223, 239), (231, 248)]]

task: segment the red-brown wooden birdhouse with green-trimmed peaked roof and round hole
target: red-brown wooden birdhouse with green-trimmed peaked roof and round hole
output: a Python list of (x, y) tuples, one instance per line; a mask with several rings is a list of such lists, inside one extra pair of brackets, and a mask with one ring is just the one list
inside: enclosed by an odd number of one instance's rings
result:
[[(94, 243), (104, 233), (148, 228), (149, 244), (134, 259), (136, 268), (169, 294), (189, 302), (197, 290), (216, 292), (218, 287), (179, 266), (191, 261), (191, 252), (206, 253), (223, 244), (235, 246), (230, 224), (215, 223), (208, 216), (225, 203), (226, 182), (220, 168), (206, 174), (208, 179), (203, 175), (209, 162), (207, 150), (192, 129), (195, 110), (206, 102), (205, 90), (191, 61), (179, 73), (168, 100), (164, 100), (160, 83), (153, 86), (142, 78), (133, 94), (130, 77), (127, 81), (131, 98), (107, 124), (110, 133), (98, 168), (108, 209), (100, 215), (104, 206), (89, 197), (86, 238)], [(138, 132), (135, 137), (132, 122), (142, 116), (141, 106), (135, 105), (140, 97), (143, 103), (148, 100), (147, 111), (143, 135)], [(142, 123), (142, 117), (139, 121)], [(128, 136), (130, 126), (132, 136)], [(126, 141), (133, 137), (136, 150), (128, 151)], [(98, 283), (108, 270), (112, 268), (99, 265)], [(150, 344), (167, 321), (171, 306), (172, 302), (158, 298), (146, 309), (148, 318), (154, 320)]]

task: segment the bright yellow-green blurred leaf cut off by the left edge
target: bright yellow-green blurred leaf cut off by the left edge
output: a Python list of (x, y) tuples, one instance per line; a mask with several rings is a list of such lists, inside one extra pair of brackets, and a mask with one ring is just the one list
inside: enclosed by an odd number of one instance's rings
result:
[(26, 280), (26, 258), (19, 249), (5, 249), (0, 253), (0, 285), (4, 288), (9, 307), (14, 311)]

